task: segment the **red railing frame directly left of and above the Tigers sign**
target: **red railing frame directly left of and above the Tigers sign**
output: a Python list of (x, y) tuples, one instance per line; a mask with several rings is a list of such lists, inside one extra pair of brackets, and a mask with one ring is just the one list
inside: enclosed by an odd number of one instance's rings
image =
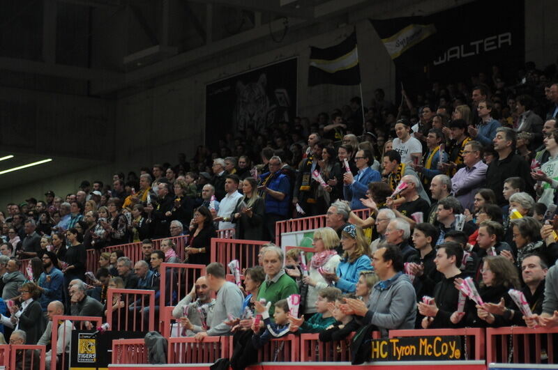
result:
[[(93, 325), (92, 327), (100, 327), (100, 325), (103, 324), (103, 318), (101, 317), (96, 317), (96, 316), (54, 316), (52, 318), (52, 323), (59, 323), (61, 321), (70, 321), (72, 323), (72, 328), (77, 327), (77, 329), (80, 330), (89, 330), (89, 328), (87, 327), (88, 325), (86, 323), (91, 323), (91, 325)], [(77, 325), (76, 325), (77, 324)], [(58, 327), (59, 325), (53, 325), (54, 327), (52, 328), (52, 337), (51, 337), (51, 351), (52, 351), (52, 356), (51, 358), (51, 365), (50, 365), (50, 369), (56, 369), (56, 362), (58, 360), (58, 358), (56, 357), (56, 355), (58, 355)], [(67, 330), (66, 325), (63, 325), (63, 330), (62, 330), (62, 343), (63, 346), (61, 348), (61, 356), (60, 356), (60, 362), (61, 362), (61, 369), (68, 369), (69, 368), (69, 364), (70, 364), (70, 354), (66, 353), (66, 344), (70, 343), (70, 340), (72, 338), (72, 329), (70, 328), (70, 330)]]

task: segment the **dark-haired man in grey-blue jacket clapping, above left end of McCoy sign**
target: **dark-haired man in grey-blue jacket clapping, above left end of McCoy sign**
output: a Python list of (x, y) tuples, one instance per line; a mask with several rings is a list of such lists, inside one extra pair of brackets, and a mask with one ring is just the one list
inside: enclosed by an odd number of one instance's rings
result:
[(403, 257), (396, 245), (379, 247), (372, 266), (380, 281), (372, 287), (368, 307), (361, 300), (347, 299), (347, 314), (363, 317), (365, 325), (376, 325), (382, 337), (388, 330), (413, 329), (416, 318), (416, 293), (403, 270)]

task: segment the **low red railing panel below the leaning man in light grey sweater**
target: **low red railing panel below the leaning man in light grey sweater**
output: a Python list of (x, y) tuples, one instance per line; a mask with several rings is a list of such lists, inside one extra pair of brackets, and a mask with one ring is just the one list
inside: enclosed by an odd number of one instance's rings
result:
[(213, 364), (221, 357), (229, 357), (228, 337), (169, 338), (167, 362), (169, 364)]

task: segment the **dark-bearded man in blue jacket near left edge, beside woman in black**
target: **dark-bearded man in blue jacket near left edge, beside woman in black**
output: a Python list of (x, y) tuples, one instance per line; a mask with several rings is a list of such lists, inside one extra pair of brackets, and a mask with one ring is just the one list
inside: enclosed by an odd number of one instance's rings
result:
[(40, 274), (38, 289), (40, 293), (39, 303), (43, 312), (47, 311), (50, 302), (62, 300), (64, 275), (55, 266), (58, 265), (58, 259), (53, 252), (45, 252), (43, 254), (43, 268), (45, 271)]

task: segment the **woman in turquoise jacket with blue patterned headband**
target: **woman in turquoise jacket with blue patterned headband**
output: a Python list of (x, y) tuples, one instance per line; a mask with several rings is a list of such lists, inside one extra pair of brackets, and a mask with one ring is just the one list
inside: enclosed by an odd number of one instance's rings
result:
[(370, 248), (360, 227), (348, 224), (341, 233), (343, 256), (335, 272), (326, 272), (326, 280), (343, 293), (353, 293), (361, 271), (370, 270)]

